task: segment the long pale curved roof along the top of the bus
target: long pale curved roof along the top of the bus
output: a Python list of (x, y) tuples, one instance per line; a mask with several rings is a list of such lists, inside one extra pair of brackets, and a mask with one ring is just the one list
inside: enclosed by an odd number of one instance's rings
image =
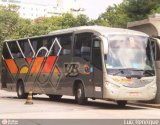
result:
[(96, 32), (98, 34), (105, 35), (105, 36), (110, 35), (110, 34), (132, 34), (132, 35), (134, 34), (134, 35), (148, 36), (147, 34), (143, 32), (123, 29), (123, 28), (111, 28), (111, 27), (105, 27), (105, 26), (79, 26), (79, 27), (55, 30), (46, 35), (26, 37), (26, 38), (14, 39), (14, 40), (5, 40), (5, 41), (9, 42), (9, 41), (39, 38), (39, 37), (46, 37), (46, 36), (73, 33), (73, 32), (76, 33), (76, 32), (83, 32), (83, 31), (84, 32), (92, 31), (92, 32)]

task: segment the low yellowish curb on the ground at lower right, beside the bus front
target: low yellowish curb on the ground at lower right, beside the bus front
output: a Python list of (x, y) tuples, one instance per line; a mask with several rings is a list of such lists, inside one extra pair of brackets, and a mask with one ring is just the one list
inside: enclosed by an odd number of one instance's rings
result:
[(128, 104), (160, 109), (160, 104), (141, 103), (141, 102), (128, 102)]

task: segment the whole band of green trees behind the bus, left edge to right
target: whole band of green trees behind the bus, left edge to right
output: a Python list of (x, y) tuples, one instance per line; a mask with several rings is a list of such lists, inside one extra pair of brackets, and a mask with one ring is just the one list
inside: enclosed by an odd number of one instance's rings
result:
[(0, 43), (5, 39), (47, 34), (50, 31), (84, 25), (126, 27), (127, 22), (147, 18), (160, 13), (160, 0), (124, 0), (106, 8), (97, 19), (90, 20), (86, 15), (75, 17), (71, 13), (61, 16), (39, 17), (35, 20), (23, 19), (18, 15), (19, 7), (0, 6)]

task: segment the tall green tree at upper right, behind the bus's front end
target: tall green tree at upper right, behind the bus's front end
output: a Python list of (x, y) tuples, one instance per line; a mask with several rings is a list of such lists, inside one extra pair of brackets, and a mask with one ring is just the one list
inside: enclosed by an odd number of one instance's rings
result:
[(97, 19), (98, 24), (126, 27), (127, 22), (142, 20), (150, 14), (160, 13), (160, 0), (124, 0), (109, 6)]

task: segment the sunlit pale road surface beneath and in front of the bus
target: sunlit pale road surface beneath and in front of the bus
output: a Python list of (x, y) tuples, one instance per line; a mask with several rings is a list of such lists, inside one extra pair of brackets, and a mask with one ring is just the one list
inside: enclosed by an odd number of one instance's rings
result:
[(33, 98), (26, 105), (15, 92), (0, 90), (0, 119), (160, 119), (160, 109), (135, 105), (120, 108), (114, 102), (89, 100), (78, 105), (74, 97), (64, 96), (61, 101), (51, 101), (46, 95)]

